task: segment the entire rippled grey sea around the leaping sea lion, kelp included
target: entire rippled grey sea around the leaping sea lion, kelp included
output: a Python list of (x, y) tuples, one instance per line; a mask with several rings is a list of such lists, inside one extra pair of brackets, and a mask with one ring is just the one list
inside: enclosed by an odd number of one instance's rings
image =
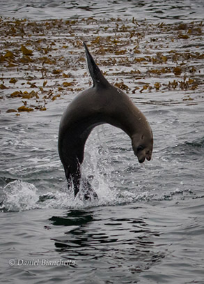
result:
[[(1, 283), (204, 283), (203, 1), (1, 1), (0, 13), (0, 55), (13, 52), (0, 70)], [(93, 130), (95, 202), (68, 192), (57, 151), (63, 110), (91, 84), (81, 40), (155, 139), (139, 165), (123, 131)]]

